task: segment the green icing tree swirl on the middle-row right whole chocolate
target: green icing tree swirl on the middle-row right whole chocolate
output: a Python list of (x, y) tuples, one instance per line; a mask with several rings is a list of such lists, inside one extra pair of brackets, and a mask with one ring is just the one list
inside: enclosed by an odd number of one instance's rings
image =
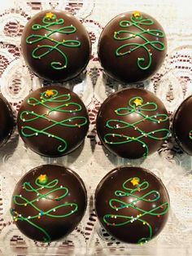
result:
[[(135, 99), (139, 99), (142, 102), (141, 106), (136, 106), (133, 101)], [(146, 152), (143, 154), (143, 157), (147, 157), (149, 153), (149, 148), (147, 144), (142, 141), (142, 138), (149, 137), (155, 140), (163, 140), (167, 139), (169, 135), (168, 129), (158, 129), (158, 130), (151, 130), (150, 132), (145, 132), (141, 130), (138, 126), (142, 121), (152, 121), (155, 123), (160, 123), (164, 121), (168, 121), (168, 115), (166, 114), (159, 114), (155, 113), (153, 115), (145, 115), (142, 112), (154, 112), (158, 110), (158, 105), (154, 102), (147, 102), (143, 104), (143, 99), (141, 97), (133, 97), (129, 99), (129, 106), (125, 108), (117, 108), (115, 113), (117, 116), (129, 116), (133, 113), (137, 113), (140, 117), (140, 120), (133, 122), (132, 124), (127, 121), (122, 121), (118, 119), (110, 119), (106, 122), (106, 127), (109, 129), (117, 130), (119, 133), (107, 133), (104, 135), (104, 142), (110, 145), (117, 145), (117, 144), (124, 144), (124, 143), (132, 143), (137, 142), (141, 143), (142, 147), (146, 149)], [(131, 135), (124, 135), (123, 132), (126, 133), (126, 128), (133, 128), (133, 130), (137, 130), (140, 133), (137, 137), (133, 137)], [(164, 132), (163, 137), (159, 137), (158, 133)], [(114, 141), (114, 138), (118, 138), (118, 141)]]

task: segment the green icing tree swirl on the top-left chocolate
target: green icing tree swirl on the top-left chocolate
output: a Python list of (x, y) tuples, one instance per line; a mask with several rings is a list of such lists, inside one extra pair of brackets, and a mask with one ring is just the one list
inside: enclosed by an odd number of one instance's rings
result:
[[(28, 44), (34, 44), (38, 43), (37, 47), (33, 50), (32, 56), (34, 59), (41, 59), (46, 55), (49, 55), (52, 51), (59, 52), (60, 55), (63, 56), (63, 64), (59, 61), (52, 61), (50, 63), (50, 66), (54, 69), (60, 70), (63, 68), (68, 67), (68, 57), (65, 55), (63, 50), (61, 50), (61, 46), (63, 47), (79, 47), (81, 46), (81, 42), (78, 40), (64, 40), (62, 42), (59, 42), (55, 40), (54, 38), (51, 38), (51, 35), (54, 35), (55, 33), (62, 33), (63, 35), (68, 35), (76, 32), (76, 27), (73, 25), (61, 27), (60, 29), (51, 29), (51, 27), (55, 27), (55, 25), (62, 25), (64, 24), (63, 19), (57, 20), (57, 16), (54, 14), (51, 19), (48, 19), (46, 16), (44, 16), (42, 20), (42, 24), (33, 24), (32, 29), (34, 31), (38, 31), (41, 29), (44, 29), (47, 31), (44, 35), (39, 34), (32, 34), (26, 38), (26, 42)], [(43, 44), (43, 41), (45, 42), (50, 41), (52, 42), (53, 46)], [(40, 45), (40, 43), (42, 43)]]

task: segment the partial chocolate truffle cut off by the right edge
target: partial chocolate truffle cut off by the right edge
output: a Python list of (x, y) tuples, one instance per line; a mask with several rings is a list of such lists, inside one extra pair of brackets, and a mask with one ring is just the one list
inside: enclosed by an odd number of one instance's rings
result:
[(182, 150), (192, 156), (192, 96), (185, 99), (172, 121), (172, 133)]

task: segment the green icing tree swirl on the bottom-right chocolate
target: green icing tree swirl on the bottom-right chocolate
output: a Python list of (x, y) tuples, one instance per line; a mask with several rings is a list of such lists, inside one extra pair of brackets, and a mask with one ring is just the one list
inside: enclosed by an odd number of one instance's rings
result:
[[(133, 179), (137, 179), (138, 184), (133, 188), (129, 188), (130, 187), (129, 185)], [(146, 220), (143, 219), (143, 217), (145, 215), (160, 217), (161, 215), (167, 214), (169, 209), (169, 203), (164, 202), (161, 205), (155, 206), (151, 210), (143, 210), (142, 208), (137, 206), (137, 203), (139, 205), (139, 202), (141, 201), (145, 201), (146, 203), (147, 202), (151, 203), (151, 202), (159, 201), (159, 198), (160, 198), (160, 194), (156, 190), (151, 190), (149, 192), (146, 192), (146, 194), (139, 196), (138, 192), (144, 191), (150, 187), (150, 184), (147, 181), (143, 181), (142, 183), (139, 183), (139, 182), (140, 182), (140, 179), (137, 177), (127, 179), (122, 185), (122, 188), (124, 189), (124, 191), (116, 190), (116, 192), (114, 193), (115, 196), (121, 199), (112, 198), (109, 200), (109, 205), (112, 210), (120, 211), (120, 210), (123, 210), (124, 208), (133, 208), (134, 210), (137, 210), (137, 214), (135, 216), (127, 216), (127, 215), (121, 215), (121, 214), (106, 214), (103, 216), (103, 221), (104, 223), (106, 223), (107, 226), (113, 226), (113, 227), (124, 226), (127, 224), (131, 224), (134, 221), (142, 222), (144, 225), (148, 227), (148, 230), (149, 230), (149, 236), (142, 237), (141, 239), (139, 239), (139, 241), (137, 241), (138, 244), (143, 244), (144, 242), (151, 240), (152, 234), (153, 234), (151, 224), (147, 223)], [(137, 192), (137, 194), (135, 194), (135, 192)], [(125, 196), (133, 197), (133, 201), (130, 203), (126, 203), (126, 201), (128, 201), (126, 198), (125, 198), (125, 201), (122, 201), (122, 199)], [(128, 232), (129, 232), (129, 229), (128, 229)]]

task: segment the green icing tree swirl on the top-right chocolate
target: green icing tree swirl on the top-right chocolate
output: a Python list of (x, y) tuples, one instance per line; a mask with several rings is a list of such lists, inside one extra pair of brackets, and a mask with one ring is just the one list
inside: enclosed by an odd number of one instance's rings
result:
[[(137, 58), (137, 66), (138, 68), (141, 68), (142, 70), (146, 70), (150, 68), (152, 63), (152, 53), (150, 52), (150, 48), (148, 46), (151, 46), (155, 50), (158, 51), (164, 51), (165, 45), (163, 42), (159, 42), (159, 38), (164, 38), (164, 32), (159, 29), (144, 29), (142, 28), (142, 25), (152, 25), (154, 24), (154, 20), (151, 19), (144, 19), (142, 15), (138, 17), (132, 16), (130, 20), (122, 20), (120, 21), (120, 28), (123, 28), (122, 30), (119, 30), (114, 33), (114, 39), (117, 41), (122, 41), (124, 45), (118, 47), (116, 49), (116, 56), (124, 56), (129, 55), (133, 51), (137, 51), (138, 49), (142, 49), (146, 52), (146, 55), (148, 56), (148, 60), (146, 63), (146, 59), (144, 57), (138, 57)], [(130, 27), (136, 27), (138, 29), (138, 32), (130, 31), (128, 28)], [(129, 35), (128, 35), (129, 34)], [(150, 41), (150, 39), (146, 38), (146, 35), (151, 35), (156, 38), (154, 41)], [(139, 37), (142, 39), (143, 43), (137, 43), (137, 42), (129, 42), (126, 43), (126, 41), (131, 40), (133, 38)], [(158, 39), (157, 39), (158, 38)]]

